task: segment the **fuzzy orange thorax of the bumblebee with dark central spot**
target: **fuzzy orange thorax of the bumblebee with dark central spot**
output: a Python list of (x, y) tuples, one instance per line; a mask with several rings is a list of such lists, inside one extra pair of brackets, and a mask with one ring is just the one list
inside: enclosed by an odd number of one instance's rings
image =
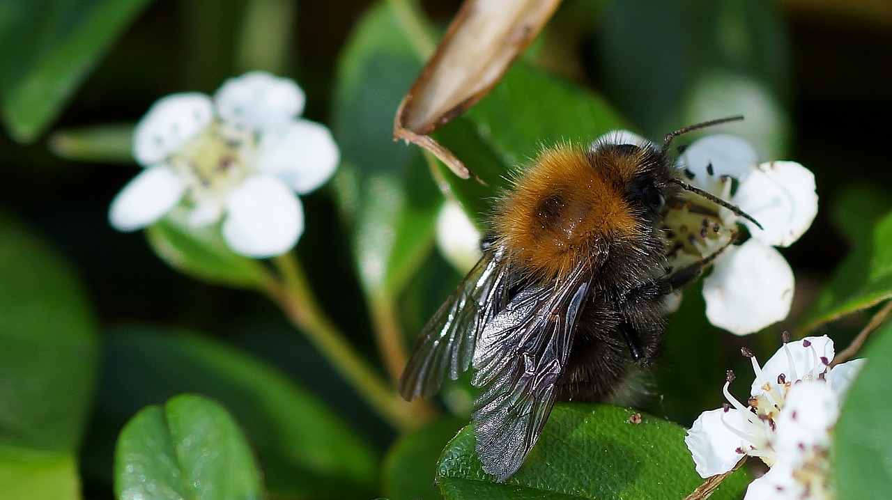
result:
[(638, 159), (581, 146), (547, 149), (516, 179), (492, 219), (509, 261), (533, 279), (594, 271), (610, 245), (633, 241), (642, 221), (624, 198)]

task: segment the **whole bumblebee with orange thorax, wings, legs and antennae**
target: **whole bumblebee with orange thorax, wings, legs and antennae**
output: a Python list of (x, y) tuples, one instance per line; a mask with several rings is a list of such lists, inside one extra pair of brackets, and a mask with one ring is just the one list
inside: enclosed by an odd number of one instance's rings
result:
[(662, 147), (615, 132), (541, 152), (496, 204), (483, 257), (421, 332), (402, 397), (430, 397), (472, 368), (476, 452), (501, 481), (558, 399), (604, 400), (630, 370), (647, 370), (666, 300), (717, 255), (668, 266), (667, 201), (689, 191), (751, 219), (681, 181), (670, 144), (734, 119), (682, 128)]

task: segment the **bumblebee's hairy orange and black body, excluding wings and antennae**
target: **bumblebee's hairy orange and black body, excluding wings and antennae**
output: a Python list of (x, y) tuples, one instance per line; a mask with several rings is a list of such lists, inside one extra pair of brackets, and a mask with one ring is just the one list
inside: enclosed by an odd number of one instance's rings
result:
[[(667, 249), (659, 207), (641, 191), (669, 197), (668, 176), (673, 172), (654, 150), (562, 145), (542, 152), (497, 204), (495, 244), (525, 280), (560, 283), (573, 269), (588, 270), (591, 284), (560, 399), (609, 398), (629, 361), (648, 365), (657, 354), (665, 293), (655, 277)], [(621, 324), (640, 332), (632, 339), (637, 356)]]

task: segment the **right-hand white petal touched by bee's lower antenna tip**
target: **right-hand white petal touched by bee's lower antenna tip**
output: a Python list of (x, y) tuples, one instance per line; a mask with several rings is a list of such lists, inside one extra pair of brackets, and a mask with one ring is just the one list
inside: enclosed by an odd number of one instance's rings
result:
[(754, 238), (772, 246), (786, 247), (799, 239), (818, 213), (814, 174), (795, 161), (768, 161), (741, 181), (731, 203), (759, 221), (748, 220)]

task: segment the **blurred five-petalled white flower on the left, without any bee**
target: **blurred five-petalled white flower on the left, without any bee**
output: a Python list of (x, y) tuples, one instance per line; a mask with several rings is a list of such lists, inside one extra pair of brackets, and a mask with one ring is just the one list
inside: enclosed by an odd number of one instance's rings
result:
[(141, 229), (183, 204), (194, 226), (222, 219), (223, 239), (244, 256), (291, 250), (303, 233), (295, 193), (324, 184), (340, 160), (326, 127), (297, 118), (303, 105), (292, 80), (261, 71), (230, 78), (212, 98), (155, 102), (134, 132), (145, 170), (111, 202), (111, 225)]

